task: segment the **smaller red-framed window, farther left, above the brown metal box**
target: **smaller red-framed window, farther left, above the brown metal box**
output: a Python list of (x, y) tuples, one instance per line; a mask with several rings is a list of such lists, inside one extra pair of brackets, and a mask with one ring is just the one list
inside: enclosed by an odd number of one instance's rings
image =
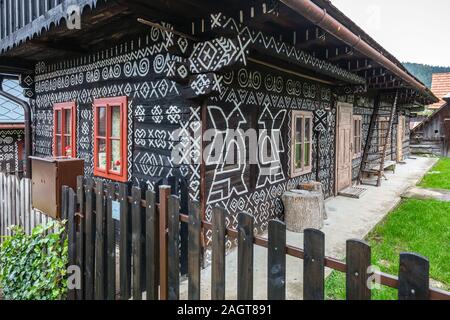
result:
[(77, 156), (75, 102), (57, 103), (53, 106), (53, 112), (53, 156), (75, 158)]

